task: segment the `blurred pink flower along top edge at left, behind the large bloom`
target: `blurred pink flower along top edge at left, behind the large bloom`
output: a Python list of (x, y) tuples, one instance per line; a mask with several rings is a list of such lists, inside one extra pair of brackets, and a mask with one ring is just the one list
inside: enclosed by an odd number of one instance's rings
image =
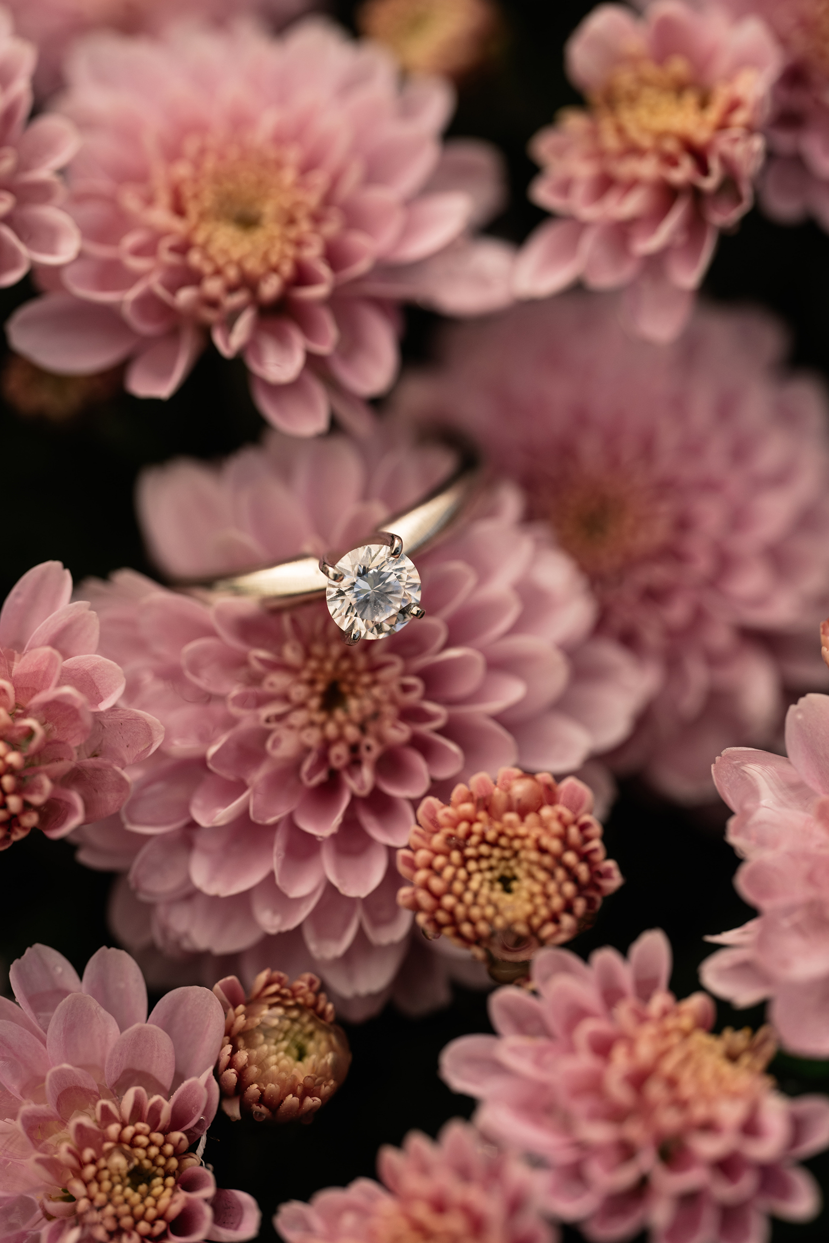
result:
[(7, 0), (17, 30), (37, 45), (35, 87), (40, 98), (62, 83), (67, 51), (80, 35), (101, 27), (127, 35), (159, 34), (188, 19), (221, 21), (256, 14), (282, 26), (314, 0)]

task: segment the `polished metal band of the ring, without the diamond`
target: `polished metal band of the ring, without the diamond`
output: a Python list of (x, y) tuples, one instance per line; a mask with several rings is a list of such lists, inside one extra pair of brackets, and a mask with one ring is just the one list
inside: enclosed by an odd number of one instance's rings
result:
[[(481, 480), (481, 457), (471, 444), (444, 435), (431, 439), (455, 449), (459, 454), (459, 465), (445, 482), (419, 501), (414, 508), (393, 515), (383, 523), (383, 542), (388, 541), (387, 533), (393, 532), (403, 541), (403, 552), (408, 557), (423, 552), (451, 526), (470, 503)], [(372, 543), (372, 533), (367, 533), (360, 543)], [(265, 566), (230, 578), (219, 578), (214, 582), (179, 580), (175, 585), (203, 600), (229, 595), (247, 597), (261, 600), (267, 609), (276, 610), (322, 598), (329, 579), (319, 568), (318, 557), (297, 557), (293, 561), (282, 561), (276, 566)]]

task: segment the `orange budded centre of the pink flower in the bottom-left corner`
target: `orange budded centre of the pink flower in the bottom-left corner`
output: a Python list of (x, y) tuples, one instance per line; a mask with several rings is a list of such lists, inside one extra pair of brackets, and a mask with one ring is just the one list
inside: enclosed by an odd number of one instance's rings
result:
[(176, 1185), (184, 1171), (199, 1163), (186, 1154), (181, 1131), (162, 1135), (147, 1122), (106, 1130), (103, 1154), (94, 1149), (72, 1150), (78, 1172), (67, 1181), (75, 1197), (75, 1214), (83, 1234), (94, 1239), (138, 1234), (158, 1239), (181, 1207)]

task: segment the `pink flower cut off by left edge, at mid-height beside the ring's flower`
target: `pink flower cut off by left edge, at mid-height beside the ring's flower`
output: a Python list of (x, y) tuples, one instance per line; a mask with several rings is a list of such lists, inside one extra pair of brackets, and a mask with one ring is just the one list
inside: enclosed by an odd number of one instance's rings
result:
[(45, 561), (0, 610), (0, 850), (35, 827), (63, 838), (117, 812), (124, 767), (162, 741), (154, 716), (116, 706), (124, 675), (96, 654), (98, 618), (71, 594), (68, 569)]

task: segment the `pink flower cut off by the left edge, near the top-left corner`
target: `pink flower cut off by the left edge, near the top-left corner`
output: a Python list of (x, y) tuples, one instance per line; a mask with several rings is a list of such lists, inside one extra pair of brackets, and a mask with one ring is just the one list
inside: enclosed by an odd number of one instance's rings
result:
[(32, 264), (68, 264), (81, 245), (62, 210), (66, 191), (56, 172), (77, 150), (75, 126), (63, 117), (27, 123), (36, 58), (0, 7), (0, 288), (16, 285)]

